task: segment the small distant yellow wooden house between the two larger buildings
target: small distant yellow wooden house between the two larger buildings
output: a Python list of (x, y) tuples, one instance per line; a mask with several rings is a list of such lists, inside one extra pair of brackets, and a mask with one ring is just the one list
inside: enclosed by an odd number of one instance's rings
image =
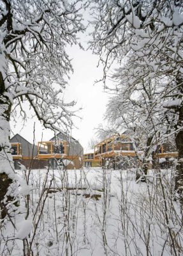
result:
[(85, 167), (100, 167), (101, 162), (101, 157), (94, 157), (94, 150), (88, 150), (88, 152), (84, 154)]

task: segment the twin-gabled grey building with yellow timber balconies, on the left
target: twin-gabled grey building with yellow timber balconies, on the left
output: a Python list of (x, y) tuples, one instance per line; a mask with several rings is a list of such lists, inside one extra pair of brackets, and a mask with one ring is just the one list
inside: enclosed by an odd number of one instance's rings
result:
[(39, 141), (38, 146), (29, 143), (19, 134), (13, 136), (10, 143), (15, 169), (20, 169), (20, 164), (31, 169), (43, 169), (47, 166), (55, 169), (58, 164), (62, 164), (70, 170), (79, 169), (83, 164), (82, 146), (62, 132), (49, 141)]

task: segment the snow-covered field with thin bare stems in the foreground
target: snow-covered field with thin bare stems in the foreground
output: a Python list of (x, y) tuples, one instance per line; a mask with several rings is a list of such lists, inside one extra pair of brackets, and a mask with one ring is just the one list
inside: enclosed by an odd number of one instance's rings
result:
[(1, 228), (1, 255), (182, 255), (171, 175), (136, 184), (135, 170), (31, 170), (10, 209), (14, 227), (7, 218)]

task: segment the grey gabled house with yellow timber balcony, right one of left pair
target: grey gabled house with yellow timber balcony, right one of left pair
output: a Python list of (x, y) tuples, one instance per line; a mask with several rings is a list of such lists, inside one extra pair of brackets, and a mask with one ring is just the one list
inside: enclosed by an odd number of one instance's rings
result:
[(49, 141), (38, 142), (38, 159), (45, 160), (51, 168), (63, 164), (69, 169), (79, 169), (83, 165), (84, 149), (74, 138), (59, 132)]

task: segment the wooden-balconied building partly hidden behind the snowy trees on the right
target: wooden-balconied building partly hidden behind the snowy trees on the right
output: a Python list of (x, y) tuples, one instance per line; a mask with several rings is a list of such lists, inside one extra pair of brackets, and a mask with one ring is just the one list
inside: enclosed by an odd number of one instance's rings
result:
[[(143, 154), (143, 151), (139, 151), (138, 154)], [(175, 145), (174, 138), (168, 138), (163, 145), (157, 147), (156, 152), (153, 155), (153, 166), (157, 164), (157, 159), (159, 161), (160, 167), (171, 166), (173, 163), (173, 158), (177, 157), (177, 148)], [(89, 163), (89, 154), (85, 154), (84, 163)], [(110, 138), (107, 138), (94, 146), (94, 156), (95, 159), (99, 159), (101, 166), (108, 166), (109, 168), (132, 168), (137, 166), (139, 163), (136, 152), (133, 148), (133, 143), (127, 134), (117, 134)]]

